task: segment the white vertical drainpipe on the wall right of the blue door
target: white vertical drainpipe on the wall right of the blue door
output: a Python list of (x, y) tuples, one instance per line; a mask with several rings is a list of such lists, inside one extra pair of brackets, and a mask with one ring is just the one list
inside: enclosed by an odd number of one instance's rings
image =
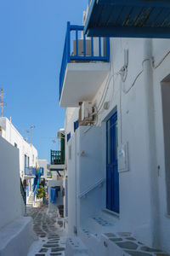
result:
[(150, 184), (150, 228), (151, 243), (153, 247), (159, 247), (159, 194), (158, 194), (158, 172), (156, 163), (156, 121), (155, 121), (155, 102), (154, 102), (154, 84), (153, 69), (151, 66), (152, 57), (152, 39), (144, 40), (144, 99), (146, 114), (146, 139), (148, 150), (148, 162), (150, 172), (148, 173)]

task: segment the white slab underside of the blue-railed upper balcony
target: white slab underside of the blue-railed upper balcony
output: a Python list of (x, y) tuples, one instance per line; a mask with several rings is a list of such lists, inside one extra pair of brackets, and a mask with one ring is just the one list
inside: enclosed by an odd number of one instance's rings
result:
[(92, 101), (109, 73), (108, 62), (68, 63), (59, 105), (78, 107), (79, 102)]

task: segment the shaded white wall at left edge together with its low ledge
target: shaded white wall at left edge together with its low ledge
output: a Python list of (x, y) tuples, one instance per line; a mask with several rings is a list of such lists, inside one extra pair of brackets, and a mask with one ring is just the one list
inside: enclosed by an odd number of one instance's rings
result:
[(20, 152), (19, 148), (14, 147), (1, 136), (0, 174), (0, 255), (26, 256), (34, 237), (31, 217), (24, 217)]

